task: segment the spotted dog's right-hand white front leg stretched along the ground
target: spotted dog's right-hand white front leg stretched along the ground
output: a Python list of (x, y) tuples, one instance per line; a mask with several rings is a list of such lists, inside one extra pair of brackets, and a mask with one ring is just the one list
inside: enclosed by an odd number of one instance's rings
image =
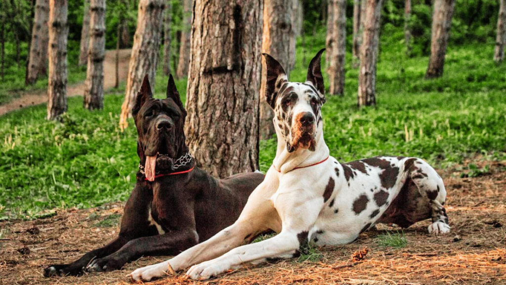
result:
[(261, 263), (266, 258), (286, 257), (286, 253), (295, 253), (300, 242), (295, 232), (281, 232), (275, 237), (234, 248), (225, 255), (192, 266), (186, 275), (192, 279), (208, 279), (243, 264)]

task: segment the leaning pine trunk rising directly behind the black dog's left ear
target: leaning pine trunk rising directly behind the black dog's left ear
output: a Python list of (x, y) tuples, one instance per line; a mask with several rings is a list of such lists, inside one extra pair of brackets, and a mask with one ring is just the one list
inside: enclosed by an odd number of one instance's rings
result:
[(156, 61), (160, 50), (160, 35), (162, 27), (164, 1), (139, 1), (139, 14), (137, 16), (137, 29), (134, 35), (134, 46), (126, 79), (125, 99), (121, 105), (119, 126), (128, 126), (129, 118), (135, 96), (141, 87), (142, 80), (148, 75), (151, 90), (154, 90)]

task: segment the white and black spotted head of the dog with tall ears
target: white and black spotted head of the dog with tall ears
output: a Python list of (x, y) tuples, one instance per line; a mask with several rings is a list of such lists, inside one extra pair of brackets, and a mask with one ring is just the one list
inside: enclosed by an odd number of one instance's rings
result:
[(288, 82), (283, 66), (268, 54), (265, 97), (274, 110), (274, 127), (279, 139), (284, 139), (288, 152), (298, 148), (315, 151), (316, 134), (321, 123), (321, 106), (325, 103), (325, 88), (321, 74), (320, 50), (309, 63), (306, 82)]

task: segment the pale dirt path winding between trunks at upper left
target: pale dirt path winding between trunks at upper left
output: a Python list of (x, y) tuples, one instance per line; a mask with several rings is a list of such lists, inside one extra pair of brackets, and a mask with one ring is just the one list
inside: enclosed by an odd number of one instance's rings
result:
[[(128, 65), (130, 62), (131, 49), (124, 49), (119, 51), (119, 80), (126, 80), (128, 75)], [(108, 90), (114, 87), (116, 83), (116, 51), (109, 50), (105, 52), (104, 60), (104, 89)], [(85, 92), (85, 83), (81, 82), (72, 86), (67, 86), (67, 96), (82, 96)], [(37, 90), (27, 92), (19, 98), (13, 98), (12, 101), (5, 105), (0, 105), (0, 116), (15, 111), (26, 106), (38, 105), (47, 103), (48, 97), (46, 90)]]

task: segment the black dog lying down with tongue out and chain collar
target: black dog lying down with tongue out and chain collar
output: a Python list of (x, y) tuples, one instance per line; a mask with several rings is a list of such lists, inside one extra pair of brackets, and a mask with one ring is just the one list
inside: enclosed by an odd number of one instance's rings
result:
[(141, 256), (177, 255), (237, 220), (264, 180), (255, 172), (217, 180), (195, 166), (185, 144), (186, 111), (172, 76), (163, 100), (153, 98), (145, 77), (132, 114), (140, 170), (119, 236), (73, 263), (49, 266), (45, 276), (112, 271)]

